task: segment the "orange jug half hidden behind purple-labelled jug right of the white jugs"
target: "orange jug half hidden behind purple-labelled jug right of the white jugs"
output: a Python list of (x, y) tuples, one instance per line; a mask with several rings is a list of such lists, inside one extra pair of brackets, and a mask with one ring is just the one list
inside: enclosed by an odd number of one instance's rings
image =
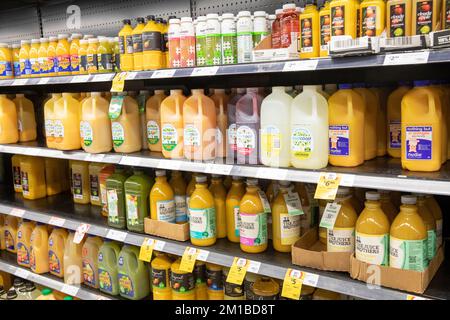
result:
[(379, 105), (376, 96), (364, 84), (354, 84), (353, 91), (359, 94), (365, 107), (364, 112), (364, 160), (371, 160), (377, 156), (377, 117)]

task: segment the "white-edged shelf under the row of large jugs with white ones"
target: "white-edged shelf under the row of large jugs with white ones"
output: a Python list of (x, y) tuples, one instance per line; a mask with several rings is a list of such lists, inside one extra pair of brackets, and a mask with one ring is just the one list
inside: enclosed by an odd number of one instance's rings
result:
[(89, 154), (84, 151), (59, 151), (27, 144), (0, 145), (0, 153), (23, 154), (50, 158), (94, 161), (125, 166), (181, 170), (259, 179), (290, 180), (317, 183), (321, 172), (342, 174), (341, 185), (347, 187), (384, 189), (403, 192), (450, 195), (450, 162), (437, 172), (410, 172), (401, 169), (399, 159), (376, 158), (356, 168), (332, 167), (321, 170), (278, 169), (265, 166), (189, 162), (164, 159), (160, 153), (142, 151), (133, 154)]

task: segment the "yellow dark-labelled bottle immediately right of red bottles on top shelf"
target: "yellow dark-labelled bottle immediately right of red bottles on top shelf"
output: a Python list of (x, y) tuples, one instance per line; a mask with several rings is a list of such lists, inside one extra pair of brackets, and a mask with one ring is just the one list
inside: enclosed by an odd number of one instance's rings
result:
[(319, 11), (315, 1), (307, 0), (300, 14), (300, 59), (316, 58), (320, 55)]

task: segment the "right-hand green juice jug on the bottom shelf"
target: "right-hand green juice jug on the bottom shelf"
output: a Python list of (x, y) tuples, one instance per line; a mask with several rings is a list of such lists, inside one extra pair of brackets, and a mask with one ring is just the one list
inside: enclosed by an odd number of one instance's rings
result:
[(140, 300), (150, 294), (148, 267), (139, 260), (139, 248), (124, 245), (119, 254), (119, 293), (130, 300)]

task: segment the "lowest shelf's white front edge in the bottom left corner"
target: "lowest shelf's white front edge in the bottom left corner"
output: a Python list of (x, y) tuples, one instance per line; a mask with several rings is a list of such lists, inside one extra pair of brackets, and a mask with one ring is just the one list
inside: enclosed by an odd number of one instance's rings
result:
[(26, 268), (18, 266), (16, 255), (5, 251), (0, 252), (0, 270), (81, 300), (116, 300), (114, 297), (100, 294), (99, 291), (84, 286), (67, 285), (61, 279), (49, 274), (35, 274)]

